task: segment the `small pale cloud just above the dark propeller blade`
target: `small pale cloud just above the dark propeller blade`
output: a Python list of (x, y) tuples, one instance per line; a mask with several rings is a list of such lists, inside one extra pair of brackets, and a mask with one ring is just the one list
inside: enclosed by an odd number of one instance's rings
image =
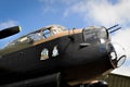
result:
[(18, 24), (18, 22), (10, 20), (6, 22), (0, 22), (0, 29), (6, 28), (6, 27), (11, 27), (11, 26), (16, 26)]

